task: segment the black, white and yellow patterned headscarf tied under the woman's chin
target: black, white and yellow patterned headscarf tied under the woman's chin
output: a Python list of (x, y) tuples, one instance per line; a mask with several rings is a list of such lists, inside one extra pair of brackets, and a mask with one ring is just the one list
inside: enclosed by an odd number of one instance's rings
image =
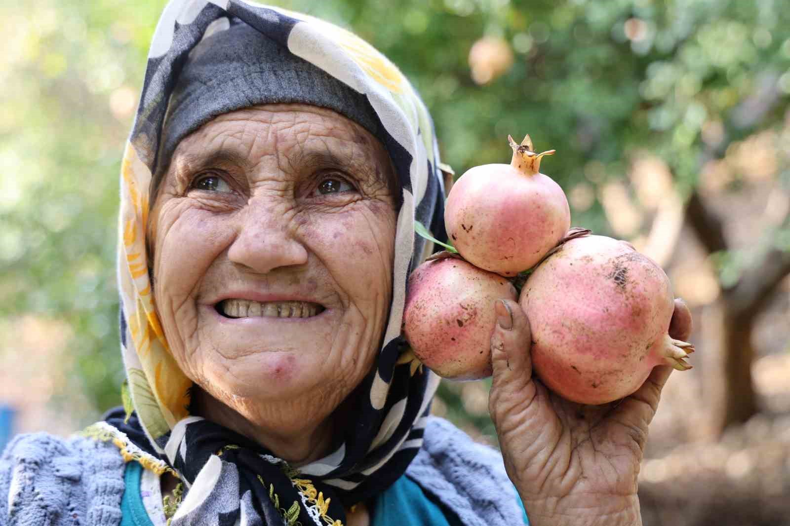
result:
[[(152, 174), (163, 151), (168, 101), (190, 51), (241, 21), (367, 99), (401, 187), (389, 321), (374, 370), (352, 393), (355, 421), (329, 455), (295, 470), (260, 445), (190, 415), (192, 381), (175, 363), (149, 280), (146, 227)], [(175, 472), (189, 488), (172, 524), (344, 523), (353, 505), (393, 483), (422, 444), (438, 377), (411, 361), (401, 336), (406, 280), (419, 264), (419, 220), (445, 237), (442, 172), (431, 118), (389, 60), (333, 24), (246, 0), (172, 0), (149, 51), (145, 84), (121, 171), (118, 280), (126, 418), (86, 434), (113, 441), (126, 460)], [(134, 410), (134, 415), (131, 411)], [(330, 498), (331, 497), (331, 498)]]

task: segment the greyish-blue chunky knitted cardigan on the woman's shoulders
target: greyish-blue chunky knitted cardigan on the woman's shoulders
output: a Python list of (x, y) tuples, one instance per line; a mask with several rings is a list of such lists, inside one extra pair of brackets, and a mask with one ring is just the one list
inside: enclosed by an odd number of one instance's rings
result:
[[(0, 526), (117, 526), (124, 461), (115, 445), (23, 434), (0, 457)], [(406, 475), (468, 526), (524, 524), (502, 456), (431, 417)]]

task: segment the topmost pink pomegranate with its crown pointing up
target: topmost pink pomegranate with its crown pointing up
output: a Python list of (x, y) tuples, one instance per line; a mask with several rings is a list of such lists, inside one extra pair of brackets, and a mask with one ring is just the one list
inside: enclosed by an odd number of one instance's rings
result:
[(461, 175), (447, 196), (445, 226), (453, 246), (472, 265), (515, 276), (532, 268), (570, 227), (562, 188), (540, 174), (529, 135), (521, 145), (508, 136), (513, 159), (484, 164)]

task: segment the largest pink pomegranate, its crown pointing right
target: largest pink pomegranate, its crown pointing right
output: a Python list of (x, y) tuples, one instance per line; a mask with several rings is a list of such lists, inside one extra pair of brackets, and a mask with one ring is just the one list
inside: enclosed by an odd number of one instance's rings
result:
[(668, 334), (669, 279), (630, 243), (600, 235), (566, 242), (521, 289), (532, 366), (567, 400), (605, 404), (634, 393), (660, 364), (677, 370), (694, 347)]

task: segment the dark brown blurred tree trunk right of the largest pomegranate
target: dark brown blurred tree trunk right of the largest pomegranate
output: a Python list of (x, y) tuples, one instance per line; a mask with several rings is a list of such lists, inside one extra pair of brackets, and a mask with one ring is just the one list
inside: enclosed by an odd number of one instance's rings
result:
[(737, 314), (724, 299), (724, 411), (720, 429), (743, 423), (757, 411), (757, 397), (751, 378), (754, 347), (751, 336), (754, 316)]

